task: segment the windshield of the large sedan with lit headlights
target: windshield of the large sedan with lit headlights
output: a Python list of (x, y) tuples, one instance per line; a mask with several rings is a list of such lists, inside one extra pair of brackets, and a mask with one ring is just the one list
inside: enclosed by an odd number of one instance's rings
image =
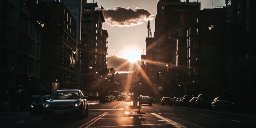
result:
[(80, 98), (78, 91), (54, 91), (49, 99), (77, 99)]

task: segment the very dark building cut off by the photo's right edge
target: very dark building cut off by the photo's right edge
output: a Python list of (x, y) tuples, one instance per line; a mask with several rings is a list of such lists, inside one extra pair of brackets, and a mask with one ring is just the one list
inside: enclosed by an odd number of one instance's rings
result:
[[(225, 93), (236, 105), (248, 105), (254, 100), (256, 71), (256, 2), (255, 0), (226, 0), (229, 30), (225, 66)], [(247, 98), (244, 98), (247, 97)]]

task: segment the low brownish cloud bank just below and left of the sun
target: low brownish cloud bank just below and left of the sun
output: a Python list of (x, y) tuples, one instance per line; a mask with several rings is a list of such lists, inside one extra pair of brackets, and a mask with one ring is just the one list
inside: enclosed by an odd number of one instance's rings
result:
[[(127, 59), (124, 58), (119, 58), (115, 55), (111, 56), (111, 57), (107, 57), (107, 65), (108, 68), (115, 68), (116, 71), (136, 71), (139, 70), (140, 67), (138, 65), (134, 65), (133, 63), (131, 63), (133, 66), (133, 69), (129, 69), (130, 67), (130, 63), (127, 62)], [(137, 61), (137, 63), (141, 63), (140, 61)], [(122, 65), (122, 66), (120, 66)]]

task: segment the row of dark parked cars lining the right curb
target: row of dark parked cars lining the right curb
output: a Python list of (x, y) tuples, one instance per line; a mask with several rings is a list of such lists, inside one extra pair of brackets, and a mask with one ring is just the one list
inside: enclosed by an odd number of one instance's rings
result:
[[(226, 96), (214, 97), (210, 94), (199, 94), (197, 97), (184, 95), (183, 97), (171, 98), (173, 105), (189, 106), (197, 108), (212, 108), (212, 110), (226, 109), (232, 110), (234, 103), (231, 98)], [(162, 105), (162, 103), (161, 103)]]

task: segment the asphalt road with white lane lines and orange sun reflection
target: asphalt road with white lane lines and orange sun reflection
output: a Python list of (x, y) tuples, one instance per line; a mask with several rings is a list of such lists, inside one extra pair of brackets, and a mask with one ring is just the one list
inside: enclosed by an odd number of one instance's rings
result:
[[(1, 112), (1, 128), (255, 128), (256, 114), (212, 111), (182, 106), (142, 105), (141, 111), (128, 109), (129, 102), (113, 101), (89, 106), (89, 117), (50, 118), (28, 112)], [(132, 113), (132, 114), (131, 114)]]

